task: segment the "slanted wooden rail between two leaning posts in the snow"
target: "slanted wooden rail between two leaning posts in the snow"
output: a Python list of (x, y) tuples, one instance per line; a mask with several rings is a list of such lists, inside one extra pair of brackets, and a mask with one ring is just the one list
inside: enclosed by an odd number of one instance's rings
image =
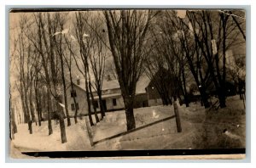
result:
[(158, 123), (163, 122), (163, 121), (166, 121), (166, 120), (170, 120), (170, 119), (172, 119), (172, 118), (175, 118), (175, 115), (172, 115), (172, 116), (167, 117), (167, 118), (162, 119), (162, 120), (154, 121), (154, 122), (152, 122), (152, 123), (150, 123), (150, 124), (147, 124), (147, 125), (145, 125), (145, 126), (140, 126), (140, 127), (138, 127), (138, 128), (129, 130), (129, 131), (127, 131), (127, 132), (121, 132), (121, 133), (116, 134), (116, 135), (114, 135), (114, 136), (106, 137), (106, 138), (104, 138), (104, 139), (101, 139), (101, 140), (99, 140), (99, 141), (94, 142), (93, 144), (102, 143), (102, 142), (104, 142), (104, 141), (108, 141), (108, 140), (113, 139), (113, 138), (115, 138), (115, 137), (123, 136), (123, 135), (129, 134), (129, 133), (131, 133), (131, 132), (137, 132), (138, 130), (141, 130), (141, 129), (146, 128), (146, 127), (148, 127), (148, 126), (153, 126), (153, 125), (155, 125), (155, 124), (158, 124)]

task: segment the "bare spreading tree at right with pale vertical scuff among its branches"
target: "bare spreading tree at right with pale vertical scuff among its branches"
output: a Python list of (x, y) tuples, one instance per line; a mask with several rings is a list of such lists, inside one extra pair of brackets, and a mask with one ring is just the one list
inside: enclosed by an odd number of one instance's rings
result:
[[(229, 11), (225, 11), (229, 12)], [(225, 104), (226, 51), (241, 35), (230, 15), (219, 11), (187, 11), (196, 45), (209, 67), (221, 108)], [(222, 59), (220, 64), (220, 59)]]

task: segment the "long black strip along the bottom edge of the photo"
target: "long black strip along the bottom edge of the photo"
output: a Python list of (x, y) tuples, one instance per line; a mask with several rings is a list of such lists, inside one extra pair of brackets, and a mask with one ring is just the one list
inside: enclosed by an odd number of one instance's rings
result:
[[(206, 154), (245, 154), (245, 148), (216, 149), (165, 149), (165, 150), (110, 150), (110, 151), (65, 151), (65, 152), (26, 152), (34, 157), (49, 158), (88, 158), (121, 156), (161, 156), (161, 155), (206, 155)], [(136, 158), (134, 158), (136, 159)]]

